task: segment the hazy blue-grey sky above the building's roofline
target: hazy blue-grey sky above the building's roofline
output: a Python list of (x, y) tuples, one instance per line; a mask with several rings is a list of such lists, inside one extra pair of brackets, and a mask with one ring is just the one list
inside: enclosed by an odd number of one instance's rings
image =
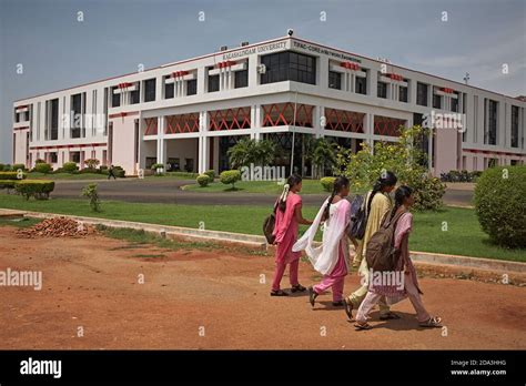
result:
[(289, 28), (526, 95), (526, 0), (0, 0), (0, 163), (11, 163), (18, 99), (283, 37)]

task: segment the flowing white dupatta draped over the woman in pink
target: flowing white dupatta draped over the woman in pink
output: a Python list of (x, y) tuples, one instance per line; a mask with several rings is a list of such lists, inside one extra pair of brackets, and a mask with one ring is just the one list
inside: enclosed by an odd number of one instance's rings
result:
[[(340, 242), (342, 237), (345, 237), (345, 228), (348, 225), (348, 211), (351, 209), (351, 204), (345, 199), (340, 200), (336, 204), (331, 204), (330, 216), (325, 221), (325, 228), (323, 231), (322, 245), (314, 247), (314, 236), (320, 227), (327, 203), (328, 199), (325, 200), (320, 212), (317, 212), (311, 227), (292, 247), (293, 252), (305, 251), (314, 270), (323, 275), (331, 274), (337, 264)], [(344, 247), (344, 253), (348, 253), (346, 247)], [(347, 264), (346, 258), (345, 264)]]

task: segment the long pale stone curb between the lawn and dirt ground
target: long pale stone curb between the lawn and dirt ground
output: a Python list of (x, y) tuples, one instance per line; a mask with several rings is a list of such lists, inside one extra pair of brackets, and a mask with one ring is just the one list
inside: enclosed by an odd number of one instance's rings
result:
[[(12, 217), (12, 216), (29, 216), (37, 219), (52, 219), (58, 216), (64, 216), (73, 219), (75, 221), (85, 223), (85, 224), (100, 224), (110, 227), (121, 227), (121, 228), (133, 228), (133, 230), (143, 230), (145, 232), (152, 233), (162, 233), (165, 232), (169, 237), (184, 237), (189, 240), (198, 241), (209, 241), (218, 243), (231, 243), (239, 244), (247, 247), (255, 248), (266, 248), (266, 240), (264, 236), (259, 235), (249, 235), (243, 233), (232, 233), (232, 232), (222, 232), (222, 231), (206, 231), (206, 230), (196, 230), (191, 227), (183, 226), (170, 226), (170, 225), (159, 225), (159, 224), (148, 224), (139, 223), (131, 221), (121, 221), (121, 220), (108, 220), (99, 217), (84, 217), (84, 216), (74, 216), (74, 215), (63, 215), (54, 213), (41, 213), (41, 212), (27, 212), (27, 211), (13, 211), (13, 210), (3, 210), (0, 209), (0, 217)], [(514, 273), (526, 273), (526, 263), (520, 262), (510, 262), (503, 260), (492, 260), (483, 257), (469, 257), (469, 256), (459, 256), (459, 255), (447, 255), (439, 253), (428, 253), (428, 252), (417, 252), (412, 251), (411, 257), (417, 263), (432, 264), (432, 265), (453, 265), (462, 266), (466, 268), (477, 268), (477, 270), (490, 270), (490, 271), (503, 271), (503, 272), (514, 272)]]

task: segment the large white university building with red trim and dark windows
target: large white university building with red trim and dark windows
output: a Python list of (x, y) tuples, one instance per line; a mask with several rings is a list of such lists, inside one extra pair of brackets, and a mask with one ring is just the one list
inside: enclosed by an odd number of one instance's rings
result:
[(462, 116), (461, 129), (436, 124), (421, 143), (439, 175), (524, 163), (525, 108), (524, 98), (287, 35), (16, 101), (13, 163), (221, 172), (229, 148), (251, 138), (279, 143), (276, 164), (290, 167), (294, 133), (294, 169), (310, 175), (307, 136), (356, 152), (396, 141), (399, 125)]

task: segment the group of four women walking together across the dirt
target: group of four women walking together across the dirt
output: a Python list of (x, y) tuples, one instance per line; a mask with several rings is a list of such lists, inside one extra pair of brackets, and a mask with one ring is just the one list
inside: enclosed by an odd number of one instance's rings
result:
[[(365, 233), (361, 240), (350, 237), (351, 203), (346, 200), (350, 193), (350, 181), (338, 176), (334, 181), (332, 194), (322, 204), (314, 221), (302, 214), (302, 177), (293, 174), (287, 179), (283, 193), (275, 205), (275, 223), (273, 230), (276, 244), (275, 273), (271, 296), (287, 296), (281, 290), (281, 281), (286, 266), (290, 266), (291, 292), (308, 291), (312, 306), (323, 292), (331, 288), (333, 306), (343, 307), (348, 321), (355, 321), (356, 329), (370, 329), (368, 315), (376, 304), (380, 306), (380, 318), (397, 319), (399, 316), (391, 311), (391, 306), (405, 297), (413, 304), (418, 323), (423, 327), (439, 327), (442, 319), (431, 316), (422, 302), (416, 271), (409, 257), (408, 237), (413, 226), (409, 212), (414, 204), (413, 191), (406, 185), (398, 186), (394, 192), (394, 203), (390, 193), (395, 190), (397, 179), (394, 173), (386, 172), (378, 177), (372, 191), (364, 199), (366, 215)], [(395, 256), (394, 272), (399, 281), (373, 281), (372, 271), (365, 258), (367, 244), (382, 226), (393, 223), (393, 251)], [(300, 240), (300, 224), (310, 225)], [(322, 242), (315, 245), (314, 238), (321, 230)], [(355, 254), (351, 263), (350, 241), (354, 244)], [(371, 244), (370, 244), (371, 245)], [(301, 252), (305, 251), (313, 267), (323, 275), (321, 283), (305, 288), (297, 280)], [(344, 281), (351, 264), (358, 267), (362, 277), (361, 286), (350, 296), (344, 297)], [(353, 312), (356, 311), (356, 316)]]

